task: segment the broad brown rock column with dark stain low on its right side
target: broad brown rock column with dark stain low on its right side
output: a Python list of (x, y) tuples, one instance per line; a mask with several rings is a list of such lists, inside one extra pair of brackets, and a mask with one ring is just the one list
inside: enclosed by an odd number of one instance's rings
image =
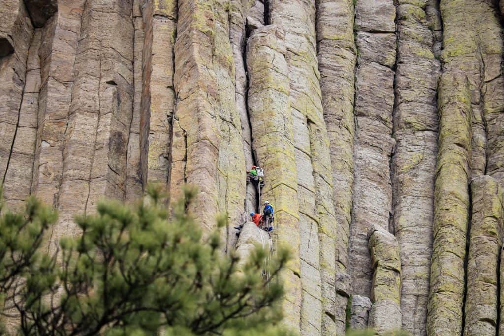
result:
[(93, 212), (100, 198), (124, 198), (134, 95), (132, 8), (129, 1), (85, 4), (54, 241), (78, 234), (74, 214)]

